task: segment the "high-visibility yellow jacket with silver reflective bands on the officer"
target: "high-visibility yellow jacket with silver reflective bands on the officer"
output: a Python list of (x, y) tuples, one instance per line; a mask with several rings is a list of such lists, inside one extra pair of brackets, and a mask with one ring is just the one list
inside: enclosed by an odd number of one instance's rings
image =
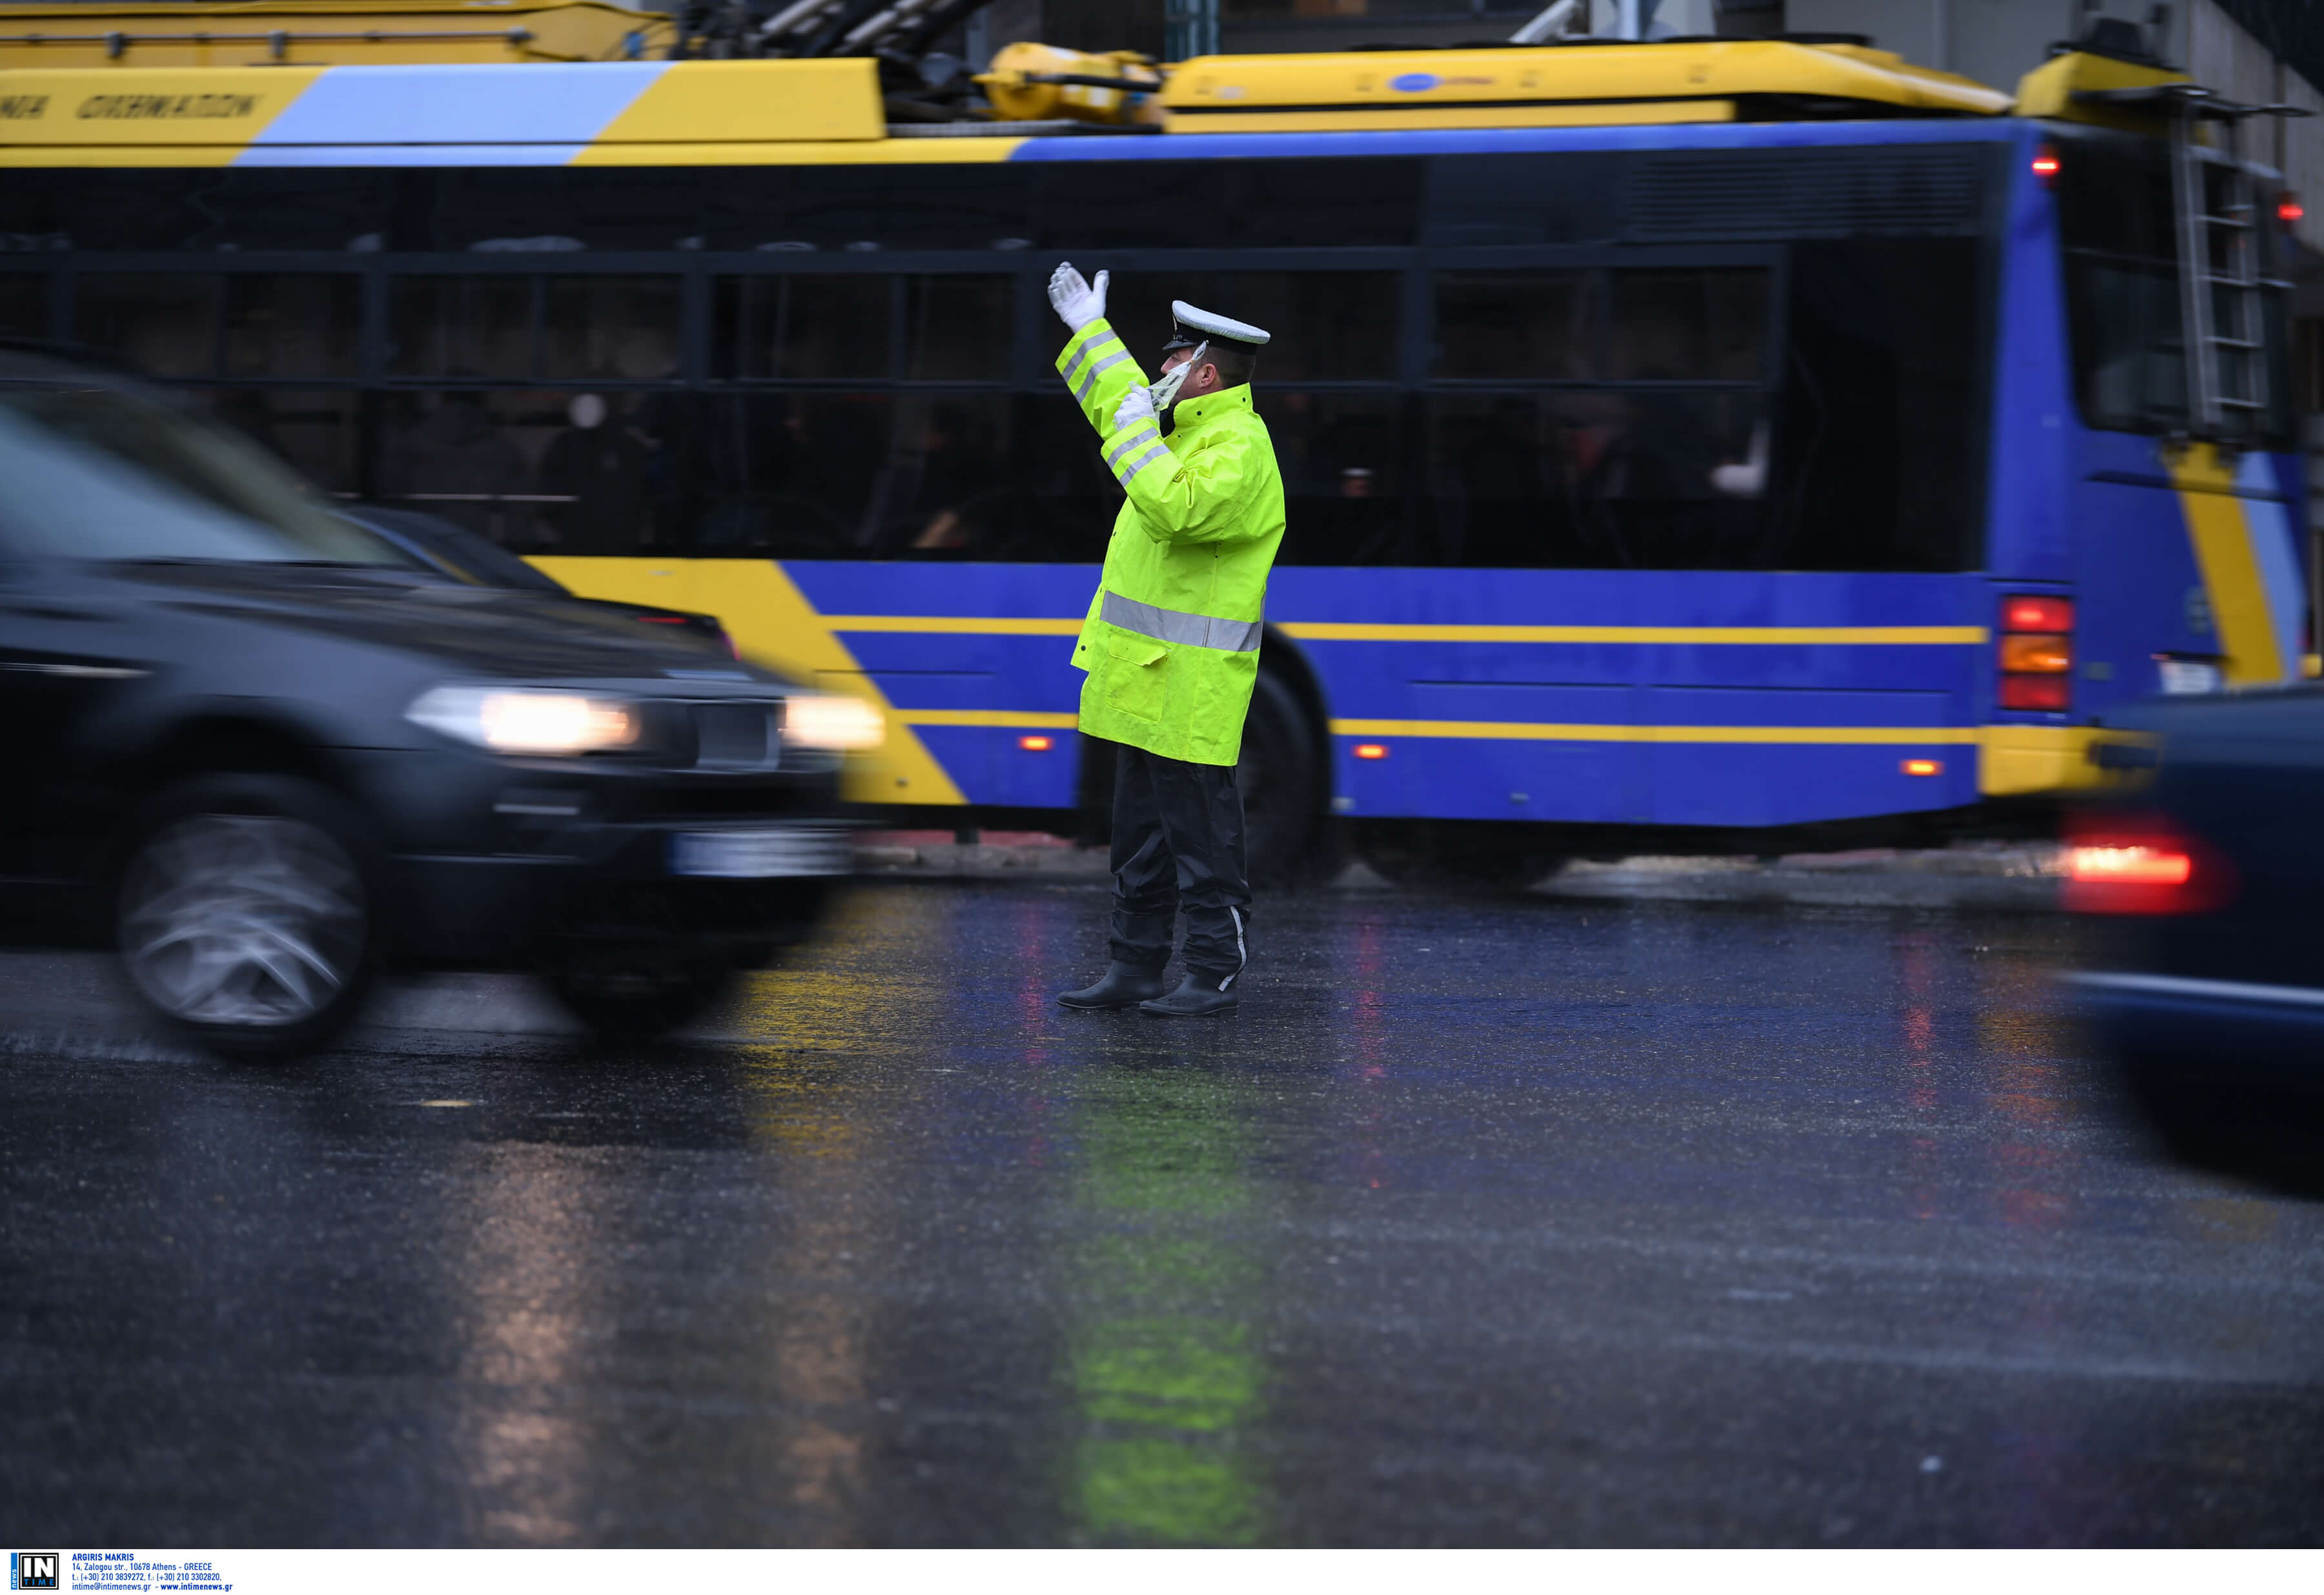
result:
[(1074, 644), (1081, 730), (1106, 742), (1232, 765), (1260, 674), (1267, 572), (1283, 542), (1283, 472), (1250, 384), (1178, 400), (1174, 428), (1113, 428), (1146, 381), (1120, 335), (1092, 321), (1057, 356), (1129, 495)]

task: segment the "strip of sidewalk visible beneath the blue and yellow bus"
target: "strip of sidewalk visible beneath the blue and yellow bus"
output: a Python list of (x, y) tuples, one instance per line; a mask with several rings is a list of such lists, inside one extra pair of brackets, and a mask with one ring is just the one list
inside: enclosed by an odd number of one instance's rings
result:
[[(1662, 902), (1813, 902), (1927, 909), (2052, 911), (2059, 907), (2054, 842), (1959, 842), (1948, 849), (1859, 849), (1759, 858), (1573, 860), (1534, 886), (1545, 897), (1638, 897)], [(951, 830), (871, 830), (855, 844), (867, 877), (1104, 881), (1106, 851), (1030, 830), (988, 830), (960, 842)], [(1329, 891), (1399, 891), (1362, 863)]]

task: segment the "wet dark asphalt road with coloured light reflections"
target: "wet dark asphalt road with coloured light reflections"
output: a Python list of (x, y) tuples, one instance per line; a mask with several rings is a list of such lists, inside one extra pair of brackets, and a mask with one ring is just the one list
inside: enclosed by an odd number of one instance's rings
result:
[(0, 956), (0, 1532), (2324, 1539), (2324, 1207), (2159, 1165), (2068, 923), (883, 884), (706, 1039), (225, 1067)]

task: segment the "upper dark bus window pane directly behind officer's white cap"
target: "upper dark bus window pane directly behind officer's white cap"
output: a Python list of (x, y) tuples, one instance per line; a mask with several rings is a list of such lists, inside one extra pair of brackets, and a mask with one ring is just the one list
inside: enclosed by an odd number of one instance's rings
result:
[(1394, 272), (1116, 272), (1109, 314), (1148, 377), (1160, 372), (1169, 305), (1267, 328), (1257, 381), (1394, 381)]

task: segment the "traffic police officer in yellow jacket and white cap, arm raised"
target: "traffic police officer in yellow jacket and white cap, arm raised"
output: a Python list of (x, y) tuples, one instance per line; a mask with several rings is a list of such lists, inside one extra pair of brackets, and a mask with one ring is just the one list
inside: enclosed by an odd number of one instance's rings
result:
[[(1174, 302), (1176, 335), (1148, 386), (1106, 326), (1106, 277), (1090, 286), (1060, 265), (1048, 279), (1048, 302), (1074, 330), (1057, 370), (1129, 495), (1074, 644), (1088, 672), (1081, 730), (1120, 744), (1113, 960), (1102, 981), (1057, 1002), (1195, 1018), (1234, 1009), (1250, 958), (1234, 760), (1260, 674), (1267, 570), (1283, 542), (1283, 474), (1250, 409), (1267, 332)], [(1164, 995), (1178, 909), (1185, 981)]]

